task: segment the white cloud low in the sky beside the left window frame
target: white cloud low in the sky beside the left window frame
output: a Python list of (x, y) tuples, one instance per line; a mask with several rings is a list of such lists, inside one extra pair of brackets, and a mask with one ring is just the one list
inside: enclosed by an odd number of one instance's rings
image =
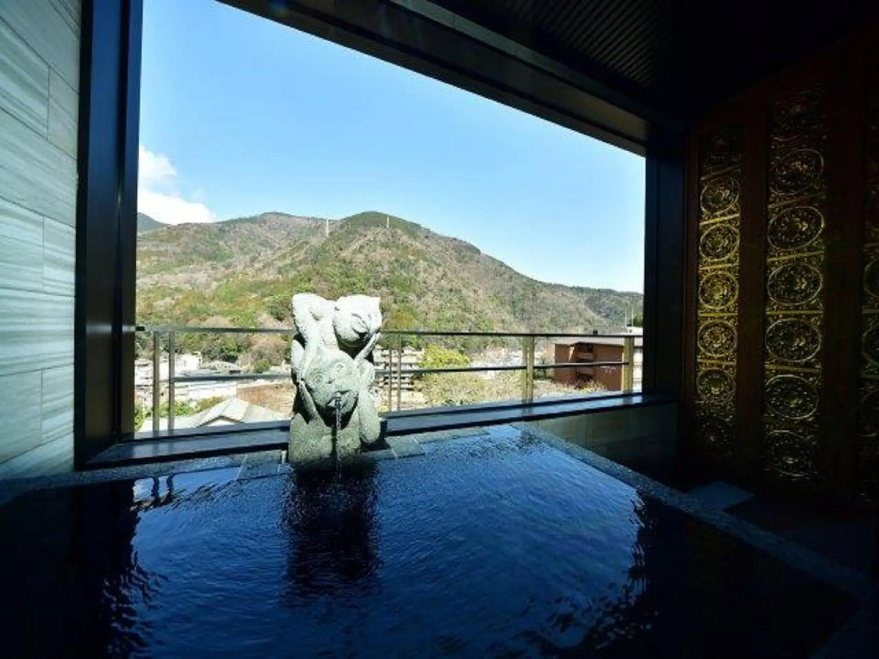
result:
[(196, 191), (195, 199), (187, 199), (178, 190), (177, 170), (168, 156), (154, 154), (141, 145), (138, 148), (137, 210), (165, 224), (213, 222), (216, 216)]

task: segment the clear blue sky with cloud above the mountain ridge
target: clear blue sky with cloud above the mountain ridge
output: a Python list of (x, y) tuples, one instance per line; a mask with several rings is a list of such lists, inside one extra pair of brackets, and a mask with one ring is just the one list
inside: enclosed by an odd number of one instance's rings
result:
[(643, 291), (643, 158), (213, 0), (145, 0), (139, 206), (378, 210), (535, 279)]

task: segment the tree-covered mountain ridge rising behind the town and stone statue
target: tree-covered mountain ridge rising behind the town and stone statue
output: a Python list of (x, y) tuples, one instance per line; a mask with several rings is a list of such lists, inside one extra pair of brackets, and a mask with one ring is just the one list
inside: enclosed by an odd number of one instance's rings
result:
[[(329, 230), (328, 230), (329, 229)], [(640, 293), (530, 279), (469, 243), (381, 213), (268, 213), (139, 236), (138, 322), (289, 322), (293, 293), (381, 296), (389, 329), (583, 331), (640, 313)]]

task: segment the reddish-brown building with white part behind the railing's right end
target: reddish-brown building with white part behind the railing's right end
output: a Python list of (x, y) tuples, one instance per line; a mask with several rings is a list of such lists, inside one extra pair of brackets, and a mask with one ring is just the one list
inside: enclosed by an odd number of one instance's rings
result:
[[(631, 333), (635, 337), (633, 355), (634, 372), (632, 387), (641, 390), (643, 380), (643, 337), (640, 328), (617, 330), (618, 333)], [(608, 332), (610, 333), (610, 332)], [(550, 338), (547, 347), (547, 360), (558, 363), (582, 362), (584, 366), (555, 368), (552, 379), (571, 386), (599, 384), (608, 391), (622, 389), (622, 366), (588, 366), (590, 362), (622, 361), (622, 337), (555, 337)]]

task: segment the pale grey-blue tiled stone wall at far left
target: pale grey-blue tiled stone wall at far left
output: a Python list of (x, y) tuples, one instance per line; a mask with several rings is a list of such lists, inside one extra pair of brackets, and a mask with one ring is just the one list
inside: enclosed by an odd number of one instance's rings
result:
[(80, 0), (0, 0), (0, 478), (73, 461)]

